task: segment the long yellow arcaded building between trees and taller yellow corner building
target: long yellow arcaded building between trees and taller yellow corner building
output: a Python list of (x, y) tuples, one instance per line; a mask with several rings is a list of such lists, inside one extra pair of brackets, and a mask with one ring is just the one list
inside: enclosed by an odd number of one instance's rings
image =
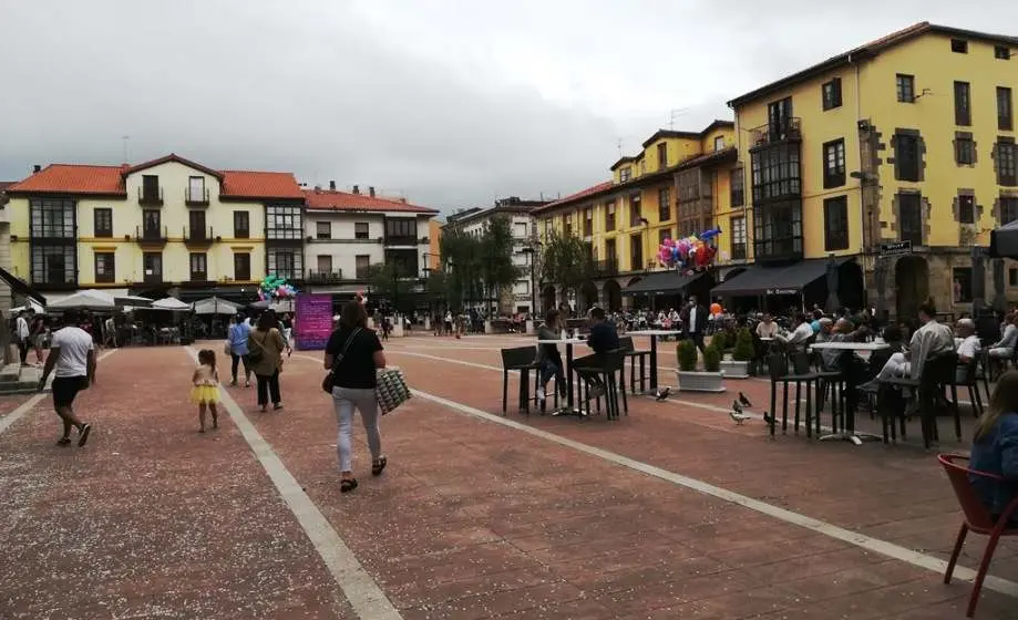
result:
[[(648, 304), (659, 296), (672, 303), (687, 290), (710, 290), (711, 277), (685, 278), (661, 266), (657, 254), (665, 238), (699, 234), (731, 210), (733, 127), (714, 121), (702, 132), (660, 130), (639, 154), (611, 165), (610, 182), (534, 210), (538, 234), (556, 230), (588, 244), (589, 280), (570, 300), (579, 310), (598, 303), (618, 310), (634, 298)], [(544, 286), (542, 308), (563, 301), (561, 287)]]

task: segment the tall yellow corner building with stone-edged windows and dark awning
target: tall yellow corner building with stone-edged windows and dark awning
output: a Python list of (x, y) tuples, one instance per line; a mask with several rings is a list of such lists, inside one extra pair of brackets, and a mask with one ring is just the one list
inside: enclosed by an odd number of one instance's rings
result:
[(729, 102), (748, 204), (719, 224), (757, 265), (716, 293), (823, 302), (833, 255), (843, 304), (970, 310), (971, 246), (1018, 217), (1016, 48), (919, 23)]

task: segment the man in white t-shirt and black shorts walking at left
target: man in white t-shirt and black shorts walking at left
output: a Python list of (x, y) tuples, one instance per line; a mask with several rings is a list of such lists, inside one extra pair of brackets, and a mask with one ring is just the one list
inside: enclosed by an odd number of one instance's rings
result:
[(53, 376), (53, 409), (63, 421), (63, 435), (56, 445), (71, 443), (71, 427), (78, 430), (78, 446), (89, 441), (92, 425), (82, 422), (74, 415), (74, 396), (89, 388), (89, 381), (95, 375), (95, 343), (85, 330), (78, 327), (76, 310), (63, 314), (66, 327), (53, 334), (50, 354), (45, 360), (39, 391), (45, 388), (45, 381), (55, 368)]

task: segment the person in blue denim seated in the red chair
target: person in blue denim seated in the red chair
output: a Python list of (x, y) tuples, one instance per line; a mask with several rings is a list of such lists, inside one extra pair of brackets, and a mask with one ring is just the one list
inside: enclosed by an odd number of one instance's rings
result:
[[(1004, 478), (968, 478), (996, 521), (1018, 496), (1018, 372), (1005, 373), (998, 380), (986, 413), (976, 425), (968, 464), (976, 472)], [(1018, 515), (1011, 515), (1008, 526), (1018, 527)]]

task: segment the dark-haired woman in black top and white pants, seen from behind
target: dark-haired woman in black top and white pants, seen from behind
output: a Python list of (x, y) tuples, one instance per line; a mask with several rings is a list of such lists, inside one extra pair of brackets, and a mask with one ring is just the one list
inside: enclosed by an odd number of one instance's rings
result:
[(382, 343), (373, 330), (368, 329), (368, 313), (359, 301), (343, 306), (339, 327), (326, 344), (326, 370), (332, 371), (332, 404), (339, 436), (336, 451), (342, 476), (339, 490), (349, 493), (357, 488), (353, 477), (353, 410), (360, 412), (368, 448), (371, 451), (371, 474), (381, 475), (388, 459), (382, 455), (382, 438), (378, 427), (378, 400), (376, 371), (385, 368)]

